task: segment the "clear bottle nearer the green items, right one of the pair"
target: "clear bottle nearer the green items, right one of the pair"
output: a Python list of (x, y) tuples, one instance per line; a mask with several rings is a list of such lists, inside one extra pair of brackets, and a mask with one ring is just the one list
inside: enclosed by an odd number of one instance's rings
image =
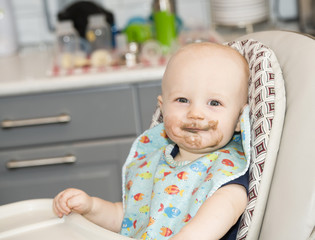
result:
[(92, 14), (88, 17), (86, 38), (92, 52), (99, 49), (112, 49), (112, 33), (104, 14)]

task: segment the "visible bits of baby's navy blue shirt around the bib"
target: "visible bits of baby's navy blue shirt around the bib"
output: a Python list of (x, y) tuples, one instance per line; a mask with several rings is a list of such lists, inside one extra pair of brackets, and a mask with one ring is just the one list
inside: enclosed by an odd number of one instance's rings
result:
[[(171, 152), (172, 157), (175, 158), (176, 155), (178, 154), (178, 152), (179, 152), (179, 148), (177, 145), (175, 145), (172, 152)], [(222, 185), (222, 187), (229, 185), (229, 184), (239, 184), (239, 185), (244, 186), (246, 189), (246, 192), (248, 194), (248, 188), (249, 188), (249, 172), (248, 172), (248, 170), (243, 176), (240, 176), (237, 179), (234, 179), (230, 182), (225, 183), (224, 185)], [(235, 223), (235, 225), (233, 225), (230, 228), (230, 230), (220, 240), (235, 240), (236, 235), (237, 235), (237, 230), (238, 230), (238, 227), (240, 225), (240, 220), (241, 220), (241, 217), (238, 219), (237, 223)]]

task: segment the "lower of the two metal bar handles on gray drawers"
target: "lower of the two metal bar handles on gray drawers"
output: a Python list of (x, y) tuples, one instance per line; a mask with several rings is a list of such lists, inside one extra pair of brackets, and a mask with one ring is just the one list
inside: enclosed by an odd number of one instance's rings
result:
[(77, 158), (74, 155), (67, 155), (64, 157), (56, 158), (43, 158), (43, 159), (31, 159), (31, 160), (10, 160), (6, 166), (8, 169), (25, 168), (25, 167), (37, 167), (46, 165), (58, 165), (75, 163)]

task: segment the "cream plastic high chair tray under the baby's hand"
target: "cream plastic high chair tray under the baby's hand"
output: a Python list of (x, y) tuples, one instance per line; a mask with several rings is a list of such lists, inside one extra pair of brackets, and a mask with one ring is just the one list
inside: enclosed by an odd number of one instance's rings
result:
[(131, 240), (101, 228), (79, 214), (56, 217), (52, 210), (52, 199), (0, 206), (0, 239)]

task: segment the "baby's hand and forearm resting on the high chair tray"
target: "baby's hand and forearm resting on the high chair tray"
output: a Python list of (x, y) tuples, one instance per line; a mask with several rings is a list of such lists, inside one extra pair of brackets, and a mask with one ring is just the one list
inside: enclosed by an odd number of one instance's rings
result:
[(97, 197), (91, 197), (85, 192), (69, 188), (60, 192), (54, 199), (53, 209), (62, 217), (76, 212), (91, 222), (113, 232), (119, 232), (123, 220), (121, 202), (112, 203)]

